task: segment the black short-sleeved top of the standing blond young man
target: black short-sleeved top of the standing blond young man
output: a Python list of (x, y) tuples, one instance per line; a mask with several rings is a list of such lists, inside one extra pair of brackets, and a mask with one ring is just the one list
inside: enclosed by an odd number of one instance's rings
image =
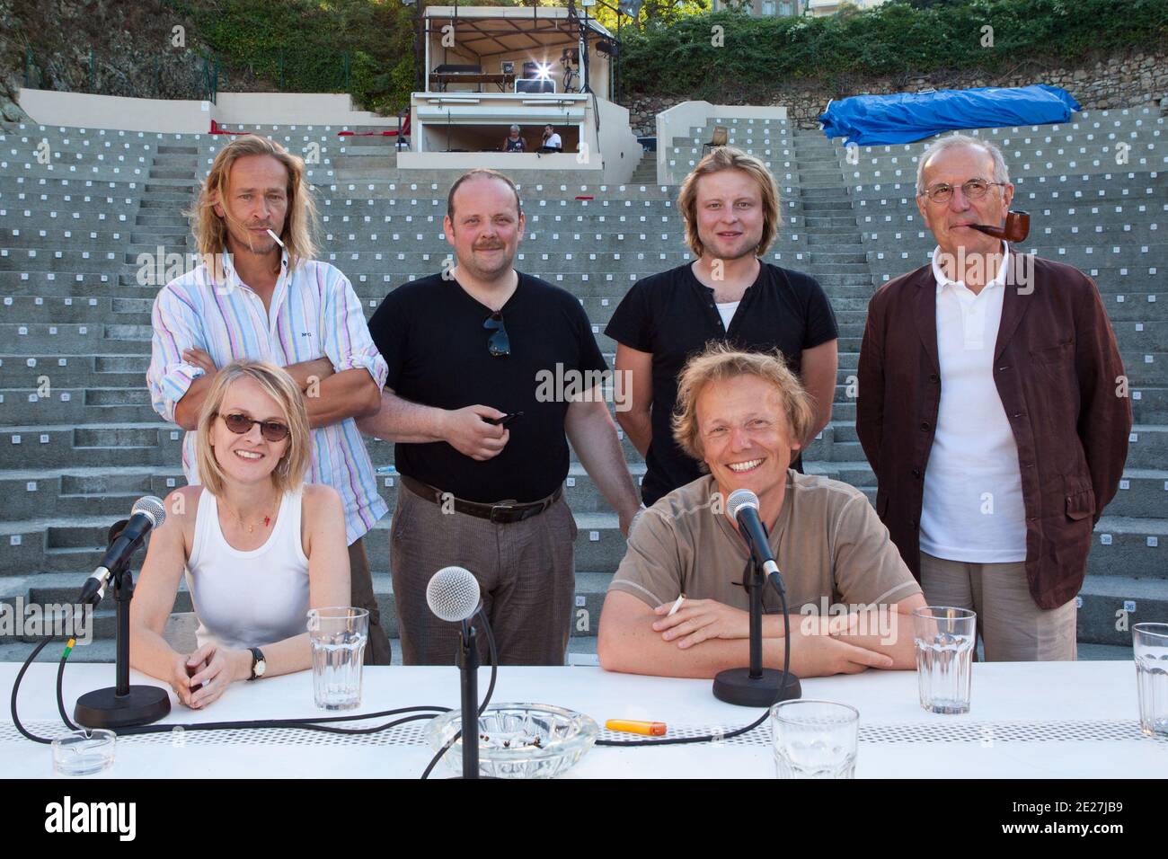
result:
[[(835, 340), (835, 313), (815, 278), (763, 263), (730, 320), (722, 324), (714, 290), (698, 280), (690, 263), (633, 284), (604, 333), (639, 352), (653, 353), (653, 437), (641, 482), (641, 498), (659, 498), (701, 477), (697, 460), (673, 441), (670, 416), (677, 402), (677, 376), (686, 361), (710, 340), (725, 340), (750, 352), (779, 348), (800, 373), (802, 351)], [(794, 467), (802, 471), (801, 462)]]

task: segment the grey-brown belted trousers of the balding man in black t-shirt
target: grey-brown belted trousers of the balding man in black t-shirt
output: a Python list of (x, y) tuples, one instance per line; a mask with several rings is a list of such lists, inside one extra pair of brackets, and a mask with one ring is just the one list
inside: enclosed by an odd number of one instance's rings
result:
[[(443, 567), (458, 566), (479, 580), (500, 665), (563, 665), (576, 593), (575, 540), (576, 520), (563, 498), (521, 522), (494, 524), (443, 513), (403, 486), (389, 549), (402, 661), (454, 664), (459, 624), (430, 611), (426, 584)], [(487, 665), (487, 637), (481, 628), (478, 632)]]

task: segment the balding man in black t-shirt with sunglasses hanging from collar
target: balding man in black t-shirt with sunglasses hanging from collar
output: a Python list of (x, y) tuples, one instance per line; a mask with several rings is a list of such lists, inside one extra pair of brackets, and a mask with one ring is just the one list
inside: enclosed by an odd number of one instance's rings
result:
[[(369, 320), (389, 375), (381, 411), (357, 422), (396, 442), (403, 660), (454, 660), (458, 625), (434, 617), (425, 591), (457, 564), (479, 580), (501, 664), (562, 665), (575, 596), (569, 439), (623, 533), (638, 508), (602, 394), (607, 365), (579, 302), (512, 268), (523, 214), (510, 179), (463, 175), (444, 228), (457, 265), (398, 286)], [(479, 646), (486, 657), (485, 636)]]

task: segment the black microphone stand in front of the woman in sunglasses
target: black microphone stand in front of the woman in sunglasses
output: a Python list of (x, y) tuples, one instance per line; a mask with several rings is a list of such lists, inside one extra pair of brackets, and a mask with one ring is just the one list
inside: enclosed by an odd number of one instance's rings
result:
[[(117, 526), (114, 526), (117, 528)], [(110, 529), (110, 542), (117, 539)], [(117, 603), (117, 685), (86, 692), (77, 699), (74, 719), (88, 728), (125, 728), (132, 725), (157, 722), (171, 712), (171, 694), (158, 686), (130, 685), (130, 601), (134, 596), (134, 577), (130, 566), (130, 553), (111, 570), (113, 601)], [(99, 597), (93, 597), (97, 605)]]

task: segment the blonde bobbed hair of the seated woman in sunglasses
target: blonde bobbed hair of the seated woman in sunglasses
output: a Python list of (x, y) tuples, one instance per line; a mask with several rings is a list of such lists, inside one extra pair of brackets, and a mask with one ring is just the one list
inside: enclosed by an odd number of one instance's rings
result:
[(294, 492), (304, 483), (304, 472), (311, 460), (308, 443), (308, 409), (304, 395), (296, 381), (283, 367), (267, 361), (232, 361), (215, 374), (195, 431), (195, 462), (199, 464), (199, 479), (213, 496), (223, 492), (223, 469), (215, 458), (211, 445), (211, 430), (218, 417), (220, 407), (227, 397), (227, 390), (238, 379), (251, 379), (267, 396), (272, 397), (283, 413), (288, 427), (287, 450), (272, 470), (272, 485), (278, 494)]

